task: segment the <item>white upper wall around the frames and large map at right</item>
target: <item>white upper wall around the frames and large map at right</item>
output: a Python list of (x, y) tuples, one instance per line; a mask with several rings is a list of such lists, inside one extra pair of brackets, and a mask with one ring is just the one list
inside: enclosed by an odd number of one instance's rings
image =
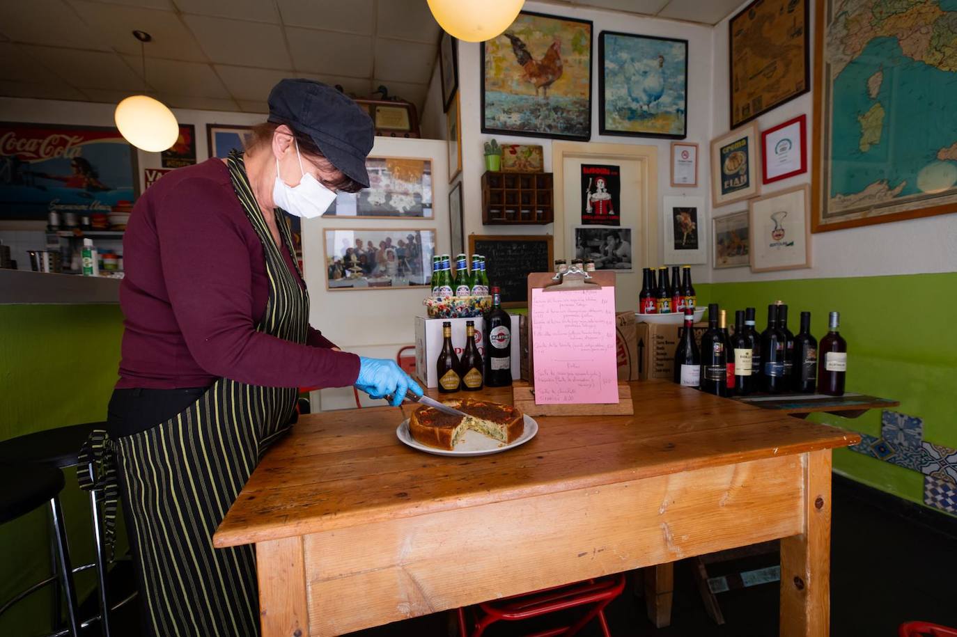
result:
[[(742, 4), (744, 8), (748, 3)], [(811, 5), (811, 22), (814, 7)], [(731, 13), (734, 15), (740, 9)], [(711, 99), (712, 137), (728, 130), (730, 96), (728, 92), (728, 19), (715, 27), (712, 56), (714, 96)], [(811, 33), (813, 42), (814, 33)], [(813, 68), (813, 47), (812, 47)], [(812, 74), (813, 75), (813, 74)], [(812, 77), (813, 81), (813, 77)], [(762, 115), (757, 119), (760, 130), (768, 129), (801, 114), (808, 116), (809, 171), (762, 187), (762, 195), (784, 188), (811, 183), (811, 135), (816, 125), (813, 120), (813, 91)], [(709, 153), (702, 147), (702, 153)], [(710, 196), (710, 195), (709, 195)], [(715, 216), (747, 208), (747, 202), (737, 202), (713, 210)], [(710, 222), (709, 222), (710, 223)], [(841, 231), (818, 232), (811, 235), (813, 267), (804, 270), (752, 273), (748, 268), (711, 271), (711, 280), (754, 281), (783, 278), (823, 278), (837, 276), (910, 275), (957, 271), (957, 214), (945, 214), (924, 219), (897, 221), (874, 226), (863, 226)], [(710, 250), (710, 247), (709, 247)]]

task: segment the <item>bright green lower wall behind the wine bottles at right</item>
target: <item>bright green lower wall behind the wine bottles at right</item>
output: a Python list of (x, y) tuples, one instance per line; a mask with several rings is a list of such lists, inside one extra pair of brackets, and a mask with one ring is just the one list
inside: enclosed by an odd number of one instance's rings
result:
[[(957, 273), (713, 283), (702, 286), (707, 302), (733, 313), (758, 310), (764, 329), (768, 304), (790, 307), (789, 327), (797, 331), (800, 312), (810, 311), (812, 335), (827, 333), (827, 313), (840, 312), (840, 333), (848, 341), (847, 391), (893, 398), (897, 410), (924, 419), (924, 439), (957, 448), (954, 410), (957, 372)], [(733, 315), (732, 315), (733, 316)], [(860, 418), (822, 414), (818, 422), (880, 435), (880, 413)], [(835, 471), (914, 502), (924, 503), (921, 473), (850, 450), (835, 451)]]

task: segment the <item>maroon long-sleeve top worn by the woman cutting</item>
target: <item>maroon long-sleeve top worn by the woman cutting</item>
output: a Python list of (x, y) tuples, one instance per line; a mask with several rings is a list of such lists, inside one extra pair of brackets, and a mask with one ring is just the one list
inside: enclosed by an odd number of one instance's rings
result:
[[(304, 285), (288, 250), (286, 267)], [(346, 386), (359, 357), (256, 332), (269, 279), (262, 242), (223, 162), (179, 168), (140, 197), (123, 237), (125, 317), (118, 388), (199, 387), (226, 377), (265, 386)]]

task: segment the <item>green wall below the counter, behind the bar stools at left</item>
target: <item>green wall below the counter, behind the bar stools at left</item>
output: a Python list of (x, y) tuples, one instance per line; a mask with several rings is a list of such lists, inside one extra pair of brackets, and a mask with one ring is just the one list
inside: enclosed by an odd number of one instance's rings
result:
[[(0, 440), (105, 420), (121, 335), (119, 305), (0, 305)], [(76, 566), (93, 560), (89, 500), (76, 471), (64, 473), (63, 517)], [(0, 525), (0, 604), (51, 572), (48, 512)], [(93, 569), (78, 574), (81, 598), (95, 582)], [(50, 607), (48, 593), (34, 594), (0, 617), (0, 635), (46, 631)]]

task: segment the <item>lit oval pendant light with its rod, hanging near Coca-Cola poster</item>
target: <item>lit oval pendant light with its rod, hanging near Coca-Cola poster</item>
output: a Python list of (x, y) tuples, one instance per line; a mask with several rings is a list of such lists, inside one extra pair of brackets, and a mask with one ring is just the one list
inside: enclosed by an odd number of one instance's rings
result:
[[(146, 82), (145, 43), (152, 40), (149, 33), (134, 31), (140, 40), (140, 52), (143, 59), (143, 81)], [(117, 104), (113, 114), (117, 128), (123, 138), (146, 152), (158, 153), (167, 150), (179, 139), (179, 123), (176, 116), (159, 99), (145, 95), (134, 95)]]

